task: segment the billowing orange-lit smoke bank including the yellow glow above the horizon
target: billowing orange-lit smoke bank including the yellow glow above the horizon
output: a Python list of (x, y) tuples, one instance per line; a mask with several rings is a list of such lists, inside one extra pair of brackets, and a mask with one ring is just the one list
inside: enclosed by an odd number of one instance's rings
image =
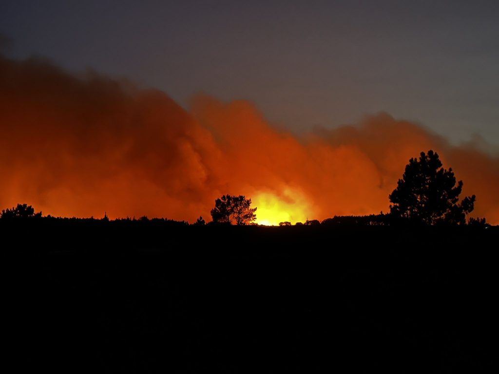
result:
[(499, 222), (498, 158), (387, 114), (298, 138), (246, 101), (198, 97), (186, 111), (157, 90), (2, 57), (0, 113), (1, 207), (193, 221), (231, 193), (262, 222), (378, 213), (408, 160), (433, 149), (477, 195), (474, 215)]

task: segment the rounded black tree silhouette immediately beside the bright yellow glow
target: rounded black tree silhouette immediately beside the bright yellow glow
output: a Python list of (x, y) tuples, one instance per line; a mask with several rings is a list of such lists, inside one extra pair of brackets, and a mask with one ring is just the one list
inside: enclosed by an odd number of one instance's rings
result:
[(244, 195), (223, 195), (215, 200), (215, 207), (211, 210), (212, 219), (216, 223), (236, 223), (247, 225), (256, 218), (256, 208), (251, 208), (251, 199)]

